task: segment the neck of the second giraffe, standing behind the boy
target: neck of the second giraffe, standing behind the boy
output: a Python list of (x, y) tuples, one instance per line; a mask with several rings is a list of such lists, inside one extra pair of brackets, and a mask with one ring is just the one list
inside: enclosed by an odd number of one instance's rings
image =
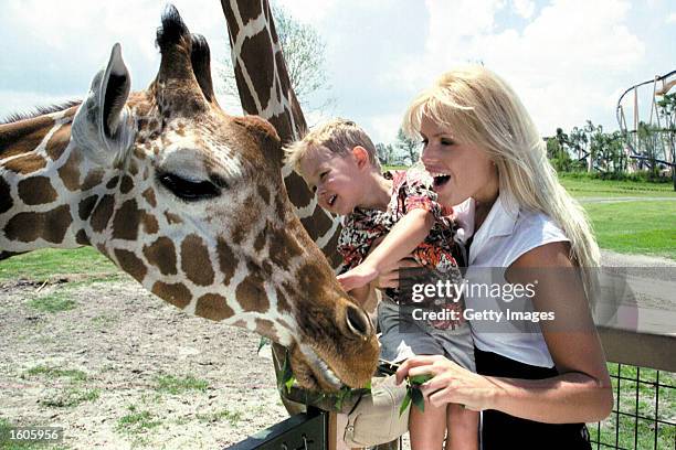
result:
[[(291, 85), (267, 0), (221, 0), (221, 4), (228, 22), (242, 108), (246, 114), (267, 119), (282, 142), (299, 139), (307, 132), (307, 126)], [(340, 261), (336, 251), (340, 231), (338, 217), (317, 205), (315, 195), (288, 164), (284, 164), (282, 173), (303, 226), (329, 261), (337, 266)]]

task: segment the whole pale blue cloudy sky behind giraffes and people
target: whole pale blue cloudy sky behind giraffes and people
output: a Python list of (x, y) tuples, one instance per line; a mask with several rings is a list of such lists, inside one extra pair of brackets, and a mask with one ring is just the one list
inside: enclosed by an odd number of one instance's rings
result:
[[(543, 136), (587, 119), (616, 129), (620, 94), (676, 68), (676, 4), (667, 0), (277, 1), (327, 44), (336, 101), (325, 116), (357, 120), (374, 141), (392, 141), (416, 93), (465, 62), (505, 77)], [(3, 0), (0, 117), (83, 97), (115, 42), (133, 87), (147, 86), (159, 64), (154, 39), (165, 3)], [(220, 1), (173, 3), (207, 36), (218, 66), (229, 52)], [(232, 100), (222, 104), (237, 113)]]

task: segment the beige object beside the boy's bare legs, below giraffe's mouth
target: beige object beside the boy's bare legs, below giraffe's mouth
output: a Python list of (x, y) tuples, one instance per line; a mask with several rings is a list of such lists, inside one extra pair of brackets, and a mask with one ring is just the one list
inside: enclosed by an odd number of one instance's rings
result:
[(409, 430), (409, 408), (399, 416), (406, 395), (405, 384), (394, 385), (394, 375), (373, 378), (371, 394), (365, 394), (348, 414), (344, 440), (349, 447), (387, 443)]

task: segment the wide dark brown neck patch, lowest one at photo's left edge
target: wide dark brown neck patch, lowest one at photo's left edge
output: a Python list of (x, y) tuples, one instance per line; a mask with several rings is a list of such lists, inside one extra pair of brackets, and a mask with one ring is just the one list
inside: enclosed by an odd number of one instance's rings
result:
[(4, 226), (4, 236), (22, 243), (31, 243), (42, 237), (47, 243), (61, 244), (72, 222), (68, 205), (45, 213), (19, 213)]

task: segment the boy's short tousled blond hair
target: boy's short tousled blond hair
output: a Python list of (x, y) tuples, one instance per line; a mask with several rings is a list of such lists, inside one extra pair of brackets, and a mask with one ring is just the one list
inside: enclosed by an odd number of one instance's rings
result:
[(380, 171), (376, 146), (373, 146), (369, 135), (353, 121), (341, 118), (331, 119), (316, 127), (303, 139), (286, 146), (284, 152), (286, 153), (286, 163), (291, 164), (296, 172), (302, 173), (302, 161), (320, 148), (325, 148), (334, 154), (347, 156), (357, 146), (366, 149), (369, 154), (369, 162)]

